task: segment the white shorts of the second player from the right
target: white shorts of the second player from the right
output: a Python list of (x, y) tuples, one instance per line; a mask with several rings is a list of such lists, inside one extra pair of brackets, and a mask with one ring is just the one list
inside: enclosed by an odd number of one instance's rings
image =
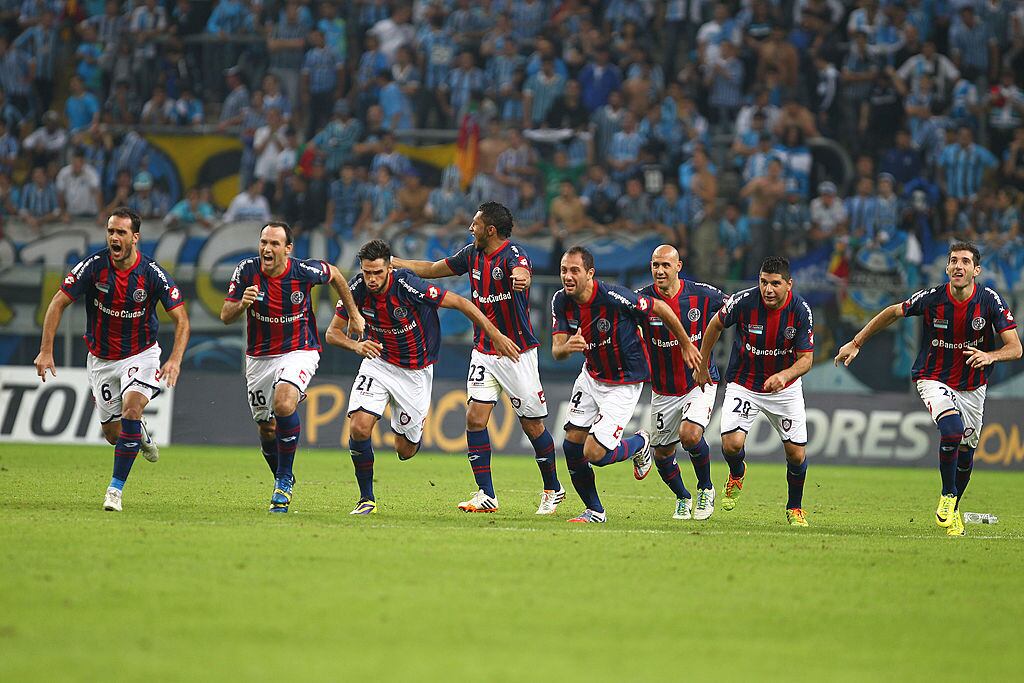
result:
[(737, 429), (749, 432), (762, 411), (783, 441), (797, 445), (807, 443), (807, 411), (800, 380), (778, 393), (758, 393), (729, 382), (722, 404), (722, 434)]

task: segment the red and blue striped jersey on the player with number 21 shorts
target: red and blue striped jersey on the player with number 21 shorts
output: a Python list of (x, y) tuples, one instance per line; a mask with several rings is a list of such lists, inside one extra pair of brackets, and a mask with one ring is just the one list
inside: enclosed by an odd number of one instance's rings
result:
[[(367, 322), (367, 336), (383, 346), (381, 359), (407, 370), (419, 370), (437, 361), (441, 326), (437, 307), (447, 290), (431, 285), (408, 268), (395, 268), (380, 294), (367, 289), (362, 273), (348, 284), (355, 305)], [(338, 302), (335, 315), (348, 319)]]

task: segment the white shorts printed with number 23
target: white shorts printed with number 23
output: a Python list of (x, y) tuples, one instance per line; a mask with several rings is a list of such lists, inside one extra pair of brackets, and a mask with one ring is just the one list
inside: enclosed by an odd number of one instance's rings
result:
[(469, 358), (466, 393), (478, 403), (497, 403), (502, 391), (509, 395), (512, 410), (520, 418), (548, 417), (548, 403), (537, 367), (537, 349), (519, 354), (519, 362), (502, 355), (480, 353), (475, 348)]

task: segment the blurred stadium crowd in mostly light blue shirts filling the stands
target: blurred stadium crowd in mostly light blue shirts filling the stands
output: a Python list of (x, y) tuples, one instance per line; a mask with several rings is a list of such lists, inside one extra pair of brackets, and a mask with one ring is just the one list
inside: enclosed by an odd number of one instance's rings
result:
[[(658, 233), (708, 276), (954, 238), (1022, 264), (1020, 1), (8, 0), (0, 25), (0, 216), (34, 230), (126, 204), (369, 239), (496, 200), (521, 237)], [(170, 196), (144, 126), (238, 135), (238, 197)], [(422, 129), (471, 163), (425, 173)]]

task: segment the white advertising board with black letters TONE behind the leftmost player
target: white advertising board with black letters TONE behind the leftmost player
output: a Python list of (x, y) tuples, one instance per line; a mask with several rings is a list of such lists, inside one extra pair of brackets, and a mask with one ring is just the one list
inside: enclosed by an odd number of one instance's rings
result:
[[(145, 423), (161, 444), (171, 442), (174, 389), (145, 407)], [(185, 416), (185, 420), (194, 419)], [(35, 368), (0, 367), (0, 442), (104, 444), (82, 368), (58, 368), (41, 382)]]

